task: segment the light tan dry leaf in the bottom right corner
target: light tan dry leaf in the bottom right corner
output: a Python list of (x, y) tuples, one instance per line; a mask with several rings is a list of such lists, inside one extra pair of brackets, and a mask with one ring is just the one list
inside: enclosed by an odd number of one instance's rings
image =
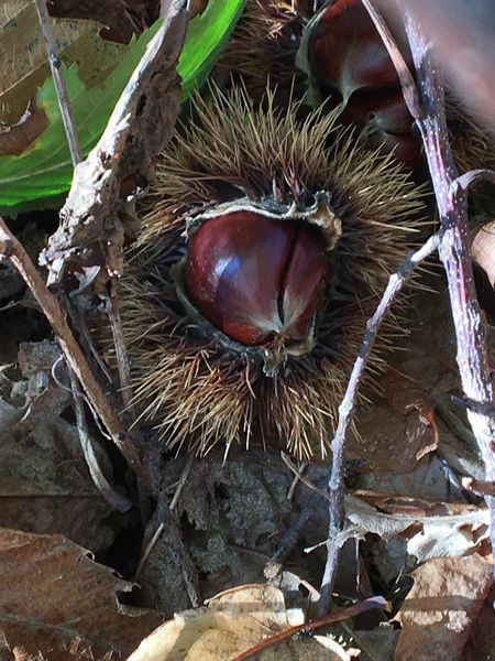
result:
[(415, 584), (397, 620), (396, 661), (457, 661), (492, 585), (492, 566), (479, 554), (443, 557), (413, 573)]

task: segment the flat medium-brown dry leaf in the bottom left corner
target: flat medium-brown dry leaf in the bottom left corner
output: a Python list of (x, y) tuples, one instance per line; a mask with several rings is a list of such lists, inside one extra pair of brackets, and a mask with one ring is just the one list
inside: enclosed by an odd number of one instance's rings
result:
[(0, 651), (2, 643), (16, 648), (19, 658), (117, 659), (160, 621), (153, 611), (122, 607), (117, 593), (132, 584), (62, 535), (0, 529)]

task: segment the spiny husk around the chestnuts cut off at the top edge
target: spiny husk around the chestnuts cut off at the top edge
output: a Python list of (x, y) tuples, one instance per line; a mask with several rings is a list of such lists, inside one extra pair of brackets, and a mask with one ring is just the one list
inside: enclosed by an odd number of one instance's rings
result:
[[(292, 95), (296, 99), (305, 98), (308, 104), (319, 105), (321, 95), (311, 87), (314, 83), (308, 84), (307, 73), (302, 73), (296, 64), (307, 23), (308, 17), (298, 15), (295, 3), (289, 0), (248, 0), (222, 63), (242, 79), (253, 98), (262, 97), (268, 76), (282, 99)], [(336, 93), (333, 105), (339, 102), (338, 97)], [(343, 110), (344, 106), (340, 108)], [(446, 112), (458, 171), (463, 173), (479, 167), (495, 170), (493, 132), (486, 130), (472, 110), (450, 93), (446, 98)]]

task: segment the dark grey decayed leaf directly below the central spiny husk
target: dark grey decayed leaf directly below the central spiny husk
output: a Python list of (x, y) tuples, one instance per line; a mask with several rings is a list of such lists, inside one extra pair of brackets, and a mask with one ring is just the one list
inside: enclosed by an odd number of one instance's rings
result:
[[(178, 457), (164, 467), (162, 479), (172, 485), (170, 495), (186, 460)], [(264, 565), (276, 551), (290, 514), (287, 491), (292, 475), (280, 464), (276, 455), (254, 448), (245, 453), (243, 447), (232, 448), (228, 462), (220, 447), (208, 457), (194, 459), (176, 511), (199, 574), (202, 598), (233, 585), (263, 582)], [(147, 525), (144, 548), (160, 523), (156, 512)], [(140, 603), (158, 607), (167, 618), (190, 604), (180, 559), (176, 534), (166, 524), (139, 576)]]

